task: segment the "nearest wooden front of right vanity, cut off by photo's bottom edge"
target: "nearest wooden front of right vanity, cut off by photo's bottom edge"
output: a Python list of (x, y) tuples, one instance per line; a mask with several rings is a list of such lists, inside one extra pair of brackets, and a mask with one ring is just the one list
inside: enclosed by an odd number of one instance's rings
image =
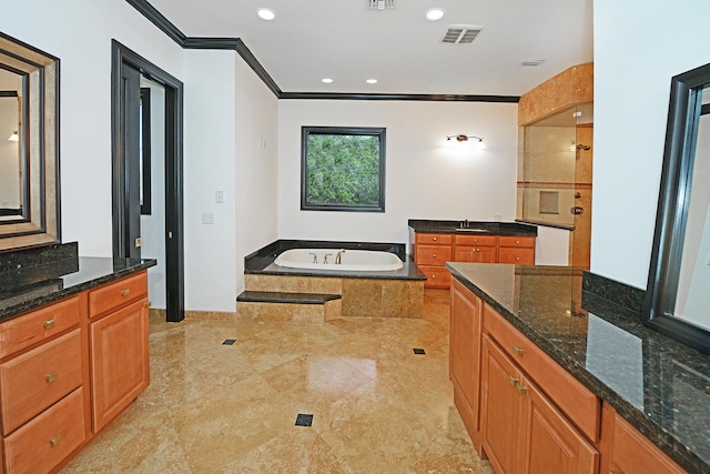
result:
[(601, 474), (682, 474), (668, 454), (651, 443), (608, 404), (602, 412)]

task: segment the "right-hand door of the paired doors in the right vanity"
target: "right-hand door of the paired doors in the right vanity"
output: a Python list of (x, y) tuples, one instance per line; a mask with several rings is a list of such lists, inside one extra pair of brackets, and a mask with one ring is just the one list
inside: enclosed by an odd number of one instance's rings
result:
[(521, 400), (520, 473), (594, 474), (599, 453), (547, 397), (525, 377)]

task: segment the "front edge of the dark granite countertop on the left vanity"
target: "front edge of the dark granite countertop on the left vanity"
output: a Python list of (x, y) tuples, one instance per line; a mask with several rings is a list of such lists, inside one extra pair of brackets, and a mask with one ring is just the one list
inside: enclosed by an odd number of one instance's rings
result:
[[(108, 259), (108, 260), (111, 260), (111, 259)], [(54, 303), (59, 300), (63, 300), (69, 296), (73, 296), (74, 294), (81, 293), (83, 291), (101, 286), (105, 283), (122, 279), (124, 276), (129, 276), (131, 274), (141, 272), (143, 270), (148, 270), (149, 268), (154, 266), (155, 264), (156, 264), (155, 260), (152, 260), (152, 259), (142, 260), (140, 263), (131, 264), (120, 270), (114, 269), (113, 272), (111, 273), (105, 273), (101, 276), (97, 276), (91, 280), (87, 280), (84, 282), (73, 284), (69, 288), (55, 290), (55, 291), (52, 291), (51, 293), (42, 294), (36, 297), (29, 297), (24, 301), (18, 302), (17, 304), (11, 304), (11, 305), (1, 307), (0, 323), (3, 323), (8, 320), (12, 320), (17, 316), (21, 316), (22, 314), (29, 311), (44, 306), (47, 304)]]

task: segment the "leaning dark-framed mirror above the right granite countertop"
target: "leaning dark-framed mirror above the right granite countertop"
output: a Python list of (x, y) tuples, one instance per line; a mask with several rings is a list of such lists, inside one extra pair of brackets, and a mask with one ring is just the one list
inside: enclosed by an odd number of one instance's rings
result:
[(710, 64), (671, 80), (645, 324), (710, 354)]

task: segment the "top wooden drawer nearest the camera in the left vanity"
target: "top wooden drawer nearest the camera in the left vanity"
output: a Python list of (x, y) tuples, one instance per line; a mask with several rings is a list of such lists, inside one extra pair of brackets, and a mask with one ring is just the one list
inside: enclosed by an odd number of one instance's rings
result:
[(0, 324), (0, 359), (79, 324), (79, 296), (62, 300)]

